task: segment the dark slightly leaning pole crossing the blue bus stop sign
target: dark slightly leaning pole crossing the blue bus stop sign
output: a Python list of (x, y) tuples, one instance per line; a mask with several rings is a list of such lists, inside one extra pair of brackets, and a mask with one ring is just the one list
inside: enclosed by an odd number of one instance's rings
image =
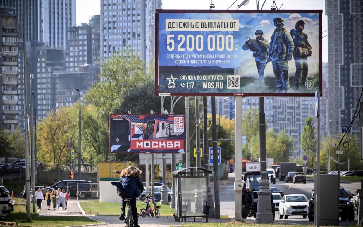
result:
[[(216, 97), (212, 96), (212, 144), (213, 144), (213, 183), (214, 183), (214, 207), (215, 218), (220, 219), (219, 204), (219, 178), (218, 178), (218, 150), (217, 150), (217, 125), (216, 125)], [(206, 152), (206, 151), (204, 151)]]

